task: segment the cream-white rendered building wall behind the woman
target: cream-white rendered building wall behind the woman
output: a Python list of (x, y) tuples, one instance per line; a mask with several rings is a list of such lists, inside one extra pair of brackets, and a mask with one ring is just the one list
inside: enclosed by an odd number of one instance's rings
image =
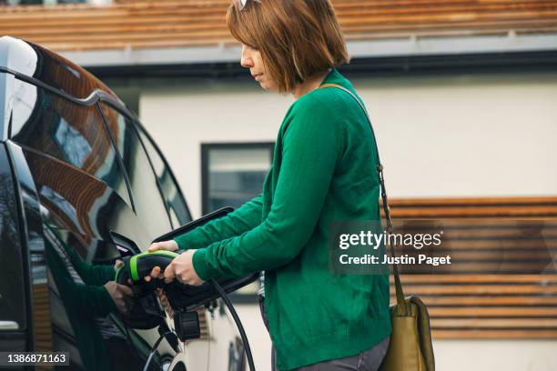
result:
[[(352, 79), (370, 111), (390, 196), (557, 195), (557, 74)], [(194, 216), (201, 143), (274, 141), (292, 98), (253, 82), (152, 87), (139, 114), (167, 156)], [(269, 370), (258, 306), (239, 315)], [(554, 370), (557, 341), (440, 340), (441, 371)], [(213, 367), (211, 367), (213, 368)]]

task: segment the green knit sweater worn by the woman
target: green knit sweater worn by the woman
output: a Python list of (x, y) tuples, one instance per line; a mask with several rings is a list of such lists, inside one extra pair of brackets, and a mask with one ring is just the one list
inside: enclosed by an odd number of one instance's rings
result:
[[(324, 80), (349, 88), (331, 70)], [(176, 238), (198, 249), (197, 275), (265, 271), (265, 305), (279, 370), (354, 356), (390, 335), (389, 276), (332, 275), (331, 221), (380, 220), (378, 159), (360, 105), (337, 88), (289, 108), (260, 196)]]

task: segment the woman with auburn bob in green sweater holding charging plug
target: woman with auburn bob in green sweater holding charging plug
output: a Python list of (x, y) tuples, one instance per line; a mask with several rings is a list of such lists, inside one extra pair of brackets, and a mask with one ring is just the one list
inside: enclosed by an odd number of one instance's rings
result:
[[(349, 81), (349, 62), (328, 0), (236, 0), (228, 29), (241, 65), (265, 90), (296, 99), (279, 129), (260, 196), (233, 213), (154, 244), (187, 249), (167, 282), (189, 285), (265, 271), (265, 311), (279, 370), (376, 370), (390, 336), (389, 277), (333, 275), (335, 220), (380, 220), (378, 159)], [(247, 107), (248, 107), (247, 102)], [(151, 274), (162, 277), (158, 268)], [(150, 277), (146, 277), (148, 280)]]

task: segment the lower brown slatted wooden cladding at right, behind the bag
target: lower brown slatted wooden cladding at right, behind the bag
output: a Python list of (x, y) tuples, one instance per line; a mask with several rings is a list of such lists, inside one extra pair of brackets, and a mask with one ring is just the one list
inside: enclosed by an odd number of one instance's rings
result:
[(401, 276), (405, 295), (428, 306), (435, 338), (557, 338), (557, 273), (542, 271), (557, 261), (557, 197), (395, 199), (390, 210), (395, 226), (423, 218), (451, 231), (435, 255), (454, 266)]

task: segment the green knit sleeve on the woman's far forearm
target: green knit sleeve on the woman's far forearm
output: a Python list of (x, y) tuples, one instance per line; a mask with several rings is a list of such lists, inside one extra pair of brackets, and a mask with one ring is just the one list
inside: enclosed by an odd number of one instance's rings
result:
[(259, 195), (227, 216), (212, 220), (203, 226), (177, 236), (174, 240), (180, 249), (197, 249), (224, 240), (231, 236), (239, 236), (261, 223), (262, 199)]

